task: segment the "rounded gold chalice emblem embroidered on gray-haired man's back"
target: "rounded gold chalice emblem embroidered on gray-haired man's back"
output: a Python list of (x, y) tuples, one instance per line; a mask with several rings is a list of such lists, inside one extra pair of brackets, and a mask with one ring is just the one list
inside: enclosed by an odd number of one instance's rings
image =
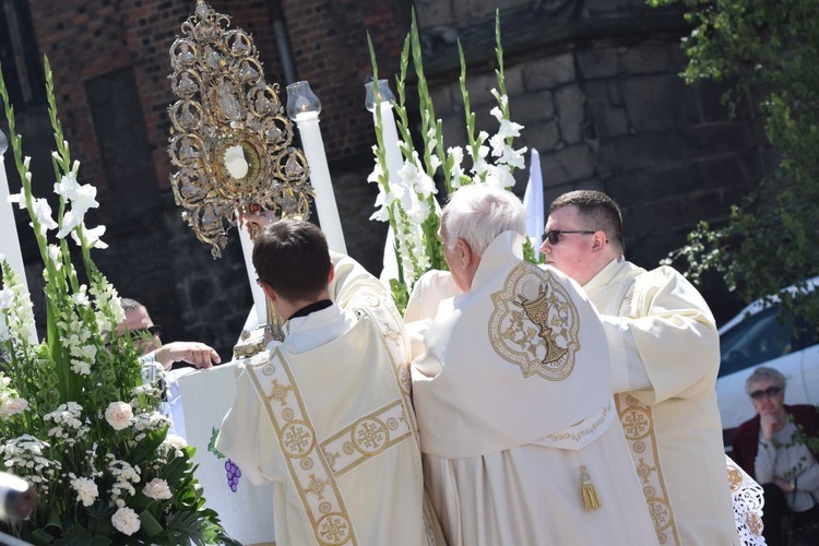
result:
[(520, 263), (491, 299), (489, 341), (496, 353), (519, 366), (523, 377), (568, 378), (580, 351), (580, 314), (551, 272)]

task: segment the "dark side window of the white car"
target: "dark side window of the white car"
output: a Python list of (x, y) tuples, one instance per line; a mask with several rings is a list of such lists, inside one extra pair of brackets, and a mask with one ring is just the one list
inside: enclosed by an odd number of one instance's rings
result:
[(720, 336), (720, 377), (784, 356), (796, 348), (778, 307), (749, 317)]

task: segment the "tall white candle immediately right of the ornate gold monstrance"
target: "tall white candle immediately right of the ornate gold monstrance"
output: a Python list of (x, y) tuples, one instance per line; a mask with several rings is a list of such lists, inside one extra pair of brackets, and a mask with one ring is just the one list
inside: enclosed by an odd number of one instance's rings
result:
[(319, 115), (304, 111), (296, 114), (295, 120), (301, 136), (305, 156), (310, 166), (310, 183), (316, 192), (316, 211), (319, 213), (321, 230), (327, 236), (330, 250), (346, 254), (347, 246), (344, 244), (339, 207), (335, 204), (333, 185), (330, 181), (330, 167), (327, 163), (324, 142), (321, 140), (321, 129), (319, 129)]

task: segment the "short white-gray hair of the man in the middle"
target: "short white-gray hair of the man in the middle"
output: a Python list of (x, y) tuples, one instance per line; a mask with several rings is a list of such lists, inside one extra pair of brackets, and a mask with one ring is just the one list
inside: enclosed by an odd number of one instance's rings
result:
[(441, 230), (450, 248), (463, 239), (478, 256), (503, 232), (526, 236), (526, 211), (511, 191), (487, 185), (471, 185), (452, 194), (441, 216)]

